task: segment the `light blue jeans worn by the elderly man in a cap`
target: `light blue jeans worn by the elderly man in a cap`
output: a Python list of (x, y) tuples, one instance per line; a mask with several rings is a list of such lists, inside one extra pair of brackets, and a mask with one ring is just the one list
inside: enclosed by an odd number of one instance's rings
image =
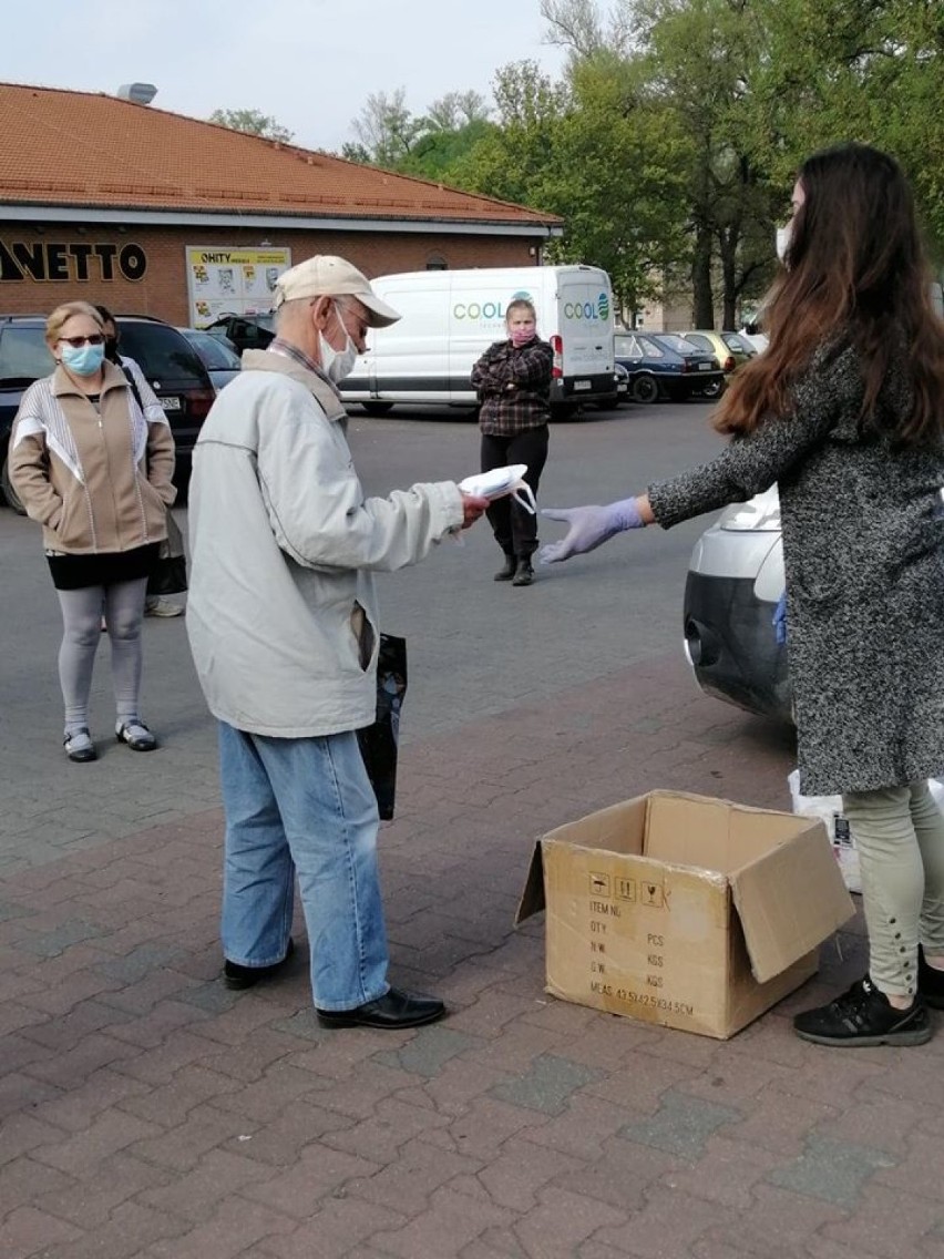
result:
[(317, 1008), (383, 997), (379, 818), (357, 735), (273, 739), (220, 721), (219, 754), (225, 957), (250, 967), (282, 961), (297, 874)]

